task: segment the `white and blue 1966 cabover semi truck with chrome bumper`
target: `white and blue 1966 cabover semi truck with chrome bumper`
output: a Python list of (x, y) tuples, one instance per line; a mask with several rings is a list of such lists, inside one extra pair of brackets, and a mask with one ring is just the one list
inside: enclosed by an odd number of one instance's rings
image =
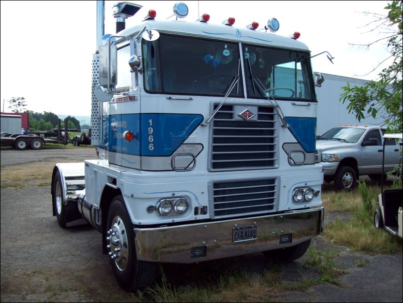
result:
[[(174, 9), (180, 18), (187, 7)], [(56, 165), (59, 224), (83, 217), (102, 233), (132, 291), (153, 281), (157, 262), (299, 258), (323, 228), (308, 47), (233, 18), (154, 17), (104, 36), (93, 56), (99, 158)]]

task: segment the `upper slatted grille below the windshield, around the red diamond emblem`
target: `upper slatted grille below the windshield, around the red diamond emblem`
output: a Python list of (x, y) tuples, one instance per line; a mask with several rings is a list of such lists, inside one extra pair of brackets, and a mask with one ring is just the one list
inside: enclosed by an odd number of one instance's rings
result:
[(277, 117), (273, 108), (257, 107), (257, 120), (237, 120), (237, 114), (235, 105), (224, 105), (214, 116), (210, 169), (274, 168), (277, 160)]

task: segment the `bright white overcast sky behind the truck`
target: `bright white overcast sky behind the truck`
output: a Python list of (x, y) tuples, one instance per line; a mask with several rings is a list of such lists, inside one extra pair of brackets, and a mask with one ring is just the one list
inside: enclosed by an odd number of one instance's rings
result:
[[(112, 6), (106, 1), (105, 33), (115, 33)], [(134, 1), (143, 8), (127, 20), (130, 27), (141, 21), (148, 10), (157, 19), (172, 15), (174, 1)], [(298, 31), (299, 41), (312, 54), (329, 51), (334, 65), (325, 55), (312, 59), (318, 72), (376, 80), (381, 70), (370, 72), (387, 56), (386, 46), (365, 49), (349, 43), (368, 43), (379, 39), (374, 20), (363, 12), (386, 15), (387, 1), (185, 1), (193, 22), (210, 14), (210, 23), (221, 24), (229, 17), (236, 27), (256, 21), (259, 28), (271, 17), (280, 23), (278, 35)], [(95, 1), (1, 1), (1, 106), (12, 97), (25, 97), (27, 109), (72, 116), (91, 112), (91, 64), (96, 48)], [(390, 62), (389, 62), (390, 63)], [(386, 62), (387, 64), (387, 62)], [(387, 65), (386, 65), (387, 66)], [(9, 104), (6, 102), (5, 111)]]

